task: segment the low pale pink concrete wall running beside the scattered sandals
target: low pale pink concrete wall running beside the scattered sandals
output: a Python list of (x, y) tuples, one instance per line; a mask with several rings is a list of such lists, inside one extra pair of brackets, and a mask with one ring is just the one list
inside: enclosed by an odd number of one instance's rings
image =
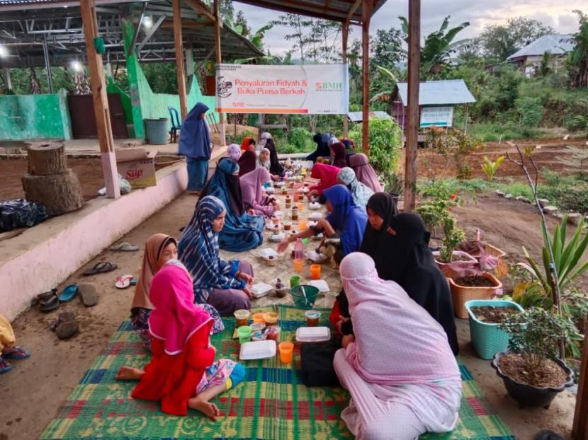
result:
[(2, 242), (0, 315), (13, 320), (26, 311), (36, 295), (63, 282), (178, 197), (187, 183), (186, 164), (178, 163), (157, 171), (157, 186), (133, 190), (116, 200), (90, 200), (76, 212), (49, 219)]

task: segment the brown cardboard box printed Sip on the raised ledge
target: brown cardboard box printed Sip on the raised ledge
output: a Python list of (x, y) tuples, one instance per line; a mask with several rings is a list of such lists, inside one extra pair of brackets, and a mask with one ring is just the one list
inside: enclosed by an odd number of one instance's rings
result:
[(157, 150), (142, 148), (115, 151), (118, 173), (128, 180), (133, 190), (157, 185), (155, 179), (155, 156)]

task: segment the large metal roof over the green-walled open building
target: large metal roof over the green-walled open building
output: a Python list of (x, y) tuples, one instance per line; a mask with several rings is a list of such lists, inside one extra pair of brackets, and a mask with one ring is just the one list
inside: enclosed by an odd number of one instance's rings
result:
[[(30, 3), (34, 2), (35, 7)], [(66, 66), (74, 61), (84, 62), (86, 40), (81, 24), (79, 1), (64, 0), (0, 0), (0, 45), (8, 57), (0, 66), (45, 66), (43, 44), (46, 40), (50, 65)], [(144, 2), (145, 3), (145, 2)], [(121, 16), (133, 23), (139, 21), (142, 3), (130, 5), (125, 0), (96, 0), (98, 32), (106, 45), (104, 62), (125, 62)], [(50, 7), (43, 7), (50, 5)], [(58, 5), (58, 6), (57, 6)], [(66, 7), (67, 6), (67, 7)], [(196, 61), (207, 59), (215, 48), (214, 23), (191, 8), (184, 7), (182, 15), (183, 45), (192, 47)], [(145, 16), (152, 18), (152, 28), (140, 28), (137, 47), (140, 62), (172, 62), (175, 60), (173, 11), (168, 0), (151, 0)], [(221, 30), (221, 48), (225, 59), (249, 58), (263, 55), (247, 38), (225, 25)], [(213, 57), (214, 58), (214, 57)]]

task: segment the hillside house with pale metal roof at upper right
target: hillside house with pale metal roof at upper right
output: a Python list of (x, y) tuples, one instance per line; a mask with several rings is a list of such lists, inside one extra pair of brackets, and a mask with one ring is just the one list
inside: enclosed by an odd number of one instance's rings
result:
[(550, 53), (549, 67), (558, 71), (563, 66), (567, 53), (574, 49), (574, 43), (570, 40), (572, 35), (552, 34), (543, 35), (529, 43), (521, 50), (514, 52), (507, 58), (507, 62), (518, 64), (527, 78), (533, 76), (541, 66), (545, 52)]

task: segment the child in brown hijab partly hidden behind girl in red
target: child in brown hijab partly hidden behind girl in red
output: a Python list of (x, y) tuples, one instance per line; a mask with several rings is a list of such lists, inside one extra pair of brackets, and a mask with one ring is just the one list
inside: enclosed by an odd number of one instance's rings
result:
[[(147, 238), (145, 242), (145, 252), (141, 263), (141, 271), (137, 286), (135, 286), (135, 296), (132, 297), (130, 308), (130, 321), (132, 328), (139, 334), (143, 347), (151, 350), (151, 337), (149, 336), (149, 315), (153, 311), (153, 304), (149, 301), (149, 290), (151, 282), (159, 269), (164, 267), (169, 260), (178, 257), (178, 246), (175, 238), (166, 236), (164, 233), (156, 233)], [(218, 312), (213, 306), (203, 305), (208, 314), (214, 319), (213, 333), (225, 330)]]

